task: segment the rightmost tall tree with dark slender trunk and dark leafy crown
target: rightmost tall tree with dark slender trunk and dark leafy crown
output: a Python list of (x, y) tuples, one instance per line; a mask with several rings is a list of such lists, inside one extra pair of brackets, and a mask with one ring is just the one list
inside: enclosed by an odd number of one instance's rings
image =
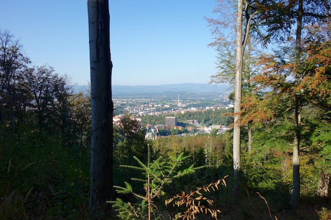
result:
[[(294, 110), (295, 110), (295, 132), (293, 138), (293, 192), (291, 198), (292, 206), (296, 207), (300, 195), (300, 178), (299, 178), (299, 146), (301, 136), (301, 108), (303, 105), (304, 89), (301, 87), (302, 78), (305, 77), (302, 72), (302, 54), (301, 54), (301, 30), (304, 24), (323, 22), (329, 18), (330, 5), (325, 0), (313, 1), (274, 1), (262, 16), (265, 19), (263, 25), (266, 26), (265, 42), (270, 42), (274, 39), (284, 43), (285, 36), (290, 36), (292, 25), (296, 24), (295, 34), (295, 57), (294, 62), (288, 66), (288, 73), (292, 73), (295, 79), (293, 84), (295, 92)], [(285, 33), (282, 35), (281, 33)], [(283, 59), (284, 61), (284, 59)], [(286, 61), (285, 61), (286, 62)]]

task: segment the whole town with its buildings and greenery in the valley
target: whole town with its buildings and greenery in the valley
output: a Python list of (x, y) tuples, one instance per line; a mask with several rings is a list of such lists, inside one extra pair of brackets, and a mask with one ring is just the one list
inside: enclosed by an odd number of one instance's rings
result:
[[(233, 111), (227, 91), (115, 93), (113, 102), (114, 124), (121, 125), (122, 118), (129, 115), (145, 129), (147, 139), (220, 134), (229, 130), (232, 120), (225, 114)], [(211, 116), (215, 113), (222, 120)]]

